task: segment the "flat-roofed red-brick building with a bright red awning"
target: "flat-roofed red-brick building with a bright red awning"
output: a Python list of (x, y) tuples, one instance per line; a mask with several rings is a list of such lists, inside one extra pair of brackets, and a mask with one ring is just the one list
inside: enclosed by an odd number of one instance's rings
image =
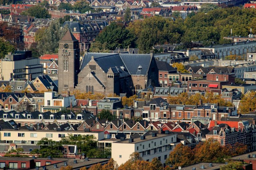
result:
[(222, 86), (235, 82), (233, 74), (213, 73), (207, 74), (206, 79), (189, 80), (188, 91), (211, 91), (211, 89), (222, 89)]

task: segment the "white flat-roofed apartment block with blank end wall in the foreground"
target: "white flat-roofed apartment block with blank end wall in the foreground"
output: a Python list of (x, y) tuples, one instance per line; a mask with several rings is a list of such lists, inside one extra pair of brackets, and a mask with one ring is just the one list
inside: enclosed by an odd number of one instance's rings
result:
[(162, 163), (168, 158), (170, 151), (175, 147), (177, 134), (143, 135), (112, 143), (111, 157), (118, 165), (125, 163), (131, 153), (139, 152), (145, 161), (158, 158)]

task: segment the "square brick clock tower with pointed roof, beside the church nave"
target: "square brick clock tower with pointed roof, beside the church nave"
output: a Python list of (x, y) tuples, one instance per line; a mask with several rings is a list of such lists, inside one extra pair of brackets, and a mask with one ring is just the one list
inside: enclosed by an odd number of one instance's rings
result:
[(59, 41), (58, 92), (74, 91), (78, 82), (80, 49), (79, 42), (69, 31)]

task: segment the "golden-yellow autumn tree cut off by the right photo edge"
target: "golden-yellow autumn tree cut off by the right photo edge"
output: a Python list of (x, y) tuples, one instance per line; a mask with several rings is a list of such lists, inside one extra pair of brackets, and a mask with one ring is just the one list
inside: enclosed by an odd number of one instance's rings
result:
[(256, 110), (256, 92), (249, 91), (240, 100), (239, 110), (241, 114), (248, 113), (250, 111)]

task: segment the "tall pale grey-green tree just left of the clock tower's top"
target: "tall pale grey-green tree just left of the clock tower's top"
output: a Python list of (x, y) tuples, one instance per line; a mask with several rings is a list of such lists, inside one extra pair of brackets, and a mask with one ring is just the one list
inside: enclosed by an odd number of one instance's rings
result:
[(69, 30), (68, 25), (61, 27), (59, 19), (54, 20), (50, 23), (47, 29), (45, 29), (42, 34), (36, 40), (39, 40), (37, 43), (37, 48), (39, 49), (40, 54), (47, 53), (56, 53), (59, 47), (59, 41)]

